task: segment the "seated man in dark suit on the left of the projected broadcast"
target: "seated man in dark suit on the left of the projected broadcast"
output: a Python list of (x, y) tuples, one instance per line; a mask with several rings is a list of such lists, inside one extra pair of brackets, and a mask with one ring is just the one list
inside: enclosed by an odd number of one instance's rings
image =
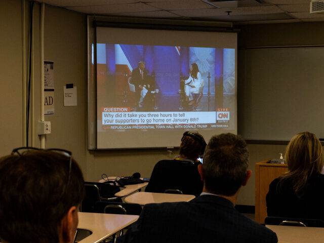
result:
[[(151, 97), (150, 91), (152, 88), (150, 87), (147, 70), (145, 70), (145, 62), (139, 62), (138, 67), (133, 69), (131, 83), (135, 86), (136, 102), (138, 102), (139, 107), (142, 107), (144, 99), (147, 100)], [(147, 90), (145, 97), (141, 96), (141, 91), (143, 89)]]

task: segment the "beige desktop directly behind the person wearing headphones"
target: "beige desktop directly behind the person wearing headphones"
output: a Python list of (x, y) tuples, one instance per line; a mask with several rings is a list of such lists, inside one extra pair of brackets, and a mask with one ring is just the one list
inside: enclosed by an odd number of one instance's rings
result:
[(169, 193), (156, 193), (156, 192), (136, 192), (125, 198), (125, 202), (129, 204), (159, 204), (159, 203), (169, 203), (176, 201), (190, 201), (195, 198), (194, 195), (185, 194), (169, 194)]

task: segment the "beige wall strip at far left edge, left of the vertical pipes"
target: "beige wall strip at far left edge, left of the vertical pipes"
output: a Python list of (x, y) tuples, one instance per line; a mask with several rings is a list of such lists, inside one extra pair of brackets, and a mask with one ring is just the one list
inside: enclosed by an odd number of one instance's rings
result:
[(0, 2), (0, 155), (23, 145), (22, 6)]

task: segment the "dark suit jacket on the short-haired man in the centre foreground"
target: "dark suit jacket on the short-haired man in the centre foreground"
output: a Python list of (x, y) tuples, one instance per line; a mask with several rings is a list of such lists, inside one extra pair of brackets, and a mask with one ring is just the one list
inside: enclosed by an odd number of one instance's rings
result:
[(145, 205), (125, 242), (277, 242), (274, 232), (238, 213), (226, 199), (211, 204), (213, 196), (204, 197)]

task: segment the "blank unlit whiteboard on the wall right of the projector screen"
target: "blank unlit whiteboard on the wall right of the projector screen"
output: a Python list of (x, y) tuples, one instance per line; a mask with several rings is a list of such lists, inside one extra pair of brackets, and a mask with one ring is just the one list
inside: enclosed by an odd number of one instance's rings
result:
[(238, 51), (238, 134), (290, 140), (324, 138), (324, 48)]

